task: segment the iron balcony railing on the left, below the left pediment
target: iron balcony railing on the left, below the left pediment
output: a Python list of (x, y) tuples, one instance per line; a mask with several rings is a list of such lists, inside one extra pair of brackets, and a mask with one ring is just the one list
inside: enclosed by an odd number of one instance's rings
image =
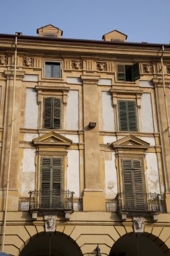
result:
[(69, 190), (30, 191), (29, 210), (69, 210), (73, 211), (73, 194)]

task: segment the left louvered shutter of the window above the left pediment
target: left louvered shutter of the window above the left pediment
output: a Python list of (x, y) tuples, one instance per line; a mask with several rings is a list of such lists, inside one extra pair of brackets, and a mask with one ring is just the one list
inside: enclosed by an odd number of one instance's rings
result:
[(52, 128), (53, 98), (44, 98), (44, 128)]

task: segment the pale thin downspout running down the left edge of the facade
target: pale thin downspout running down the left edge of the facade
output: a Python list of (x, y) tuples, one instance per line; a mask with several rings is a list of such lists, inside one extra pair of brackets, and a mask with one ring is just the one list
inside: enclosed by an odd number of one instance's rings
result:
[(2, 245), (1, 251), (4, 249), (5, 243), (5, 231), (6, 231), (6, 222), (7, 222), (7, 203), (9, 195), (9, 178), (10, 178), (10, 168), (11, 168), (11, 150), (12, 150), (12, 139), (13, 139), (13, 119), (14, 119), (14, 106), (15, 106), (15, 82), (16, 82), (16, 67), (17, 67), (17, 34), (15, 33), (15, 61), (14, 61), (14, 76), (13, 76), (13, 104), (12, 104), (12, 117), (11, 117), (11, 136), (10, 136), (10, 145), (9, 145), (9, 163), (7, 169), (7, 189), (5, 197), (5, 212), (3, 220), (3, 235), (2, 235)]

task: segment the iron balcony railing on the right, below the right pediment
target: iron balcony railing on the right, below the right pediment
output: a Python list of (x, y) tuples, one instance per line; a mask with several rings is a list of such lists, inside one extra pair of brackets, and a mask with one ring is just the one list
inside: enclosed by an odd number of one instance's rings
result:
[(118, 193), (117, 211), (160, 212), (160, 195), (157, 193)]

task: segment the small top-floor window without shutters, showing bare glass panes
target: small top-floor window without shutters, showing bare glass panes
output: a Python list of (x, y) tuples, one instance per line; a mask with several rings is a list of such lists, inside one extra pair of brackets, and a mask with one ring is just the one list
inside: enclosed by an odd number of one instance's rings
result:
[(60, 78), (60, 62), (45, 61), (45, 77)]

